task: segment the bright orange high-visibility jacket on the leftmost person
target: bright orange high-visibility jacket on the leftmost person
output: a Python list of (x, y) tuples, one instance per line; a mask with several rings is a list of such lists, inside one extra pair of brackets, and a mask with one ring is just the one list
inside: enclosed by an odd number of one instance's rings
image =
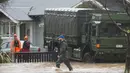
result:
[(10, 43), (10, 49), (11, 49), (11, 52), (13, 53), (20, 52), (21, 50), (21, 42), (20, 40), (17, 40), (17, 41), (18, 41), (18, 46), (15, 46), (14, 40)]

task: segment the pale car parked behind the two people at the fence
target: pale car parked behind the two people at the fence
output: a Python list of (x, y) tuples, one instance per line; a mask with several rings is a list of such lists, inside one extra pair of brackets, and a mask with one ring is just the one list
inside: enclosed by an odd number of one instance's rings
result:
[[(21, 47), (23, 46), (23, 40), (20, 40)], [(10, 42), (2, 43), (0, 51), (2, 52), (10, 52)], [(30, 44), (30, 52), (40, 52), (40, 48), (38, 46), (34, 46), (32, 43)]]

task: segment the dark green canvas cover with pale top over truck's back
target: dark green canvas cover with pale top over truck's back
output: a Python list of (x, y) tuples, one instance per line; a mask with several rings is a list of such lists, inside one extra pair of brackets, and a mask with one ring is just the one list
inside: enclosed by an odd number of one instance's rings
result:
[(89, 21), (88, 18), (91, 16), (87, 11), (92, 10), (91, 8), (45, 9), (45, 35), (52, 37), (64, 34), (69, 44), (77, 45), (81, 33), (80, 27)]

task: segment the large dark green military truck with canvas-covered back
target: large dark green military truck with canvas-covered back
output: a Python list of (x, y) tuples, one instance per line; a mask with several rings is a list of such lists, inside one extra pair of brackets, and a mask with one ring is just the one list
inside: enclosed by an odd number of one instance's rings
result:
[[(130, 27), (127, 14), (110, 11), (110, 15), (121, 28)], [(125, 60), (126, 34), (114, 25), (106, 11), (91, 8), (47, 8), (44, 33), (45, 46), (49, 51), (55, 48), (55, 38), (63, 34), (68, 43), (70, 59), (84, 62)]]

